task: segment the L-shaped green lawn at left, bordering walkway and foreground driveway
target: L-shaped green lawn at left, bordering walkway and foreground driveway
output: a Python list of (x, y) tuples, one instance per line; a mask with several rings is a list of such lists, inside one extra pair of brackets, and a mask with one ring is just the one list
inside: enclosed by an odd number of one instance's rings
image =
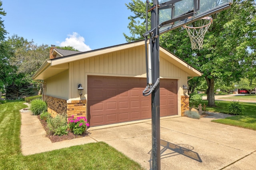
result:
[(20, 150), (22, 101), (0, 104), (1, 170), (141, 170), (140, 164), (104, 142), (90, 143), (23, 156)]

